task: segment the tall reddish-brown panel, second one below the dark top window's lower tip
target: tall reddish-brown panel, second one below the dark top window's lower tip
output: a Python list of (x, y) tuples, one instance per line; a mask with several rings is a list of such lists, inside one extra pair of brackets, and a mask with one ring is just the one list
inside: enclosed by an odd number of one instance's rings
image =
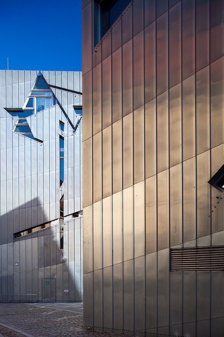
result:
[(92, 134), (101, 130), (101, 64), (92, 69)]

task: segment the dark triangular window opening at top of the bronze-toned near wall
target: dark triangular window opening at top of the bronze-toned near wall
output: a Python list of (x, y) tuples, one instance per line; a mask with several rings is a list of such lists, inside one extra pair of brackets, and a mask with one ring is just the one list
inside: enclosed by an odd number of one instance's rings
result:
[(129, 3), (130, 0), (94, 1), (94, 47)]

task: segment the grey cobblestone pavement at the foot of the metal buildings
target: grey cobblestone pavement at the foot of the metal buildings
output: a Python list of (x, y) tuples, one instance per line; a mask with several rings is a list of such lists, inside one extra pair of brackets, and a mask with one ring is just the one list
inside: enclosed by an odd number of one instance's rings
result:
[[(20, 330), (11, 331), (1, 326)], [(0, 303), (0, 334), (4, 337), (121, 337), (116, 333), (85, 330), (82, 303)], [(1, 336), (1, 335), (0, 335)]]

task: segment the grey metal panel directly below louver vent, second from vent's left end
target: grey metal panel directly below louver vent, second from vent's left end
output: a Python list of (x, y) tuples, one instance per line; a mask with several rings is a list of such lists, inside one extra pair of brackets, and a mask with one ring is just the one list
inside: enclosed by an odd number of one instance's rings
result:
[(183, 273), (183, 323), (196, 318), (196, 273)]

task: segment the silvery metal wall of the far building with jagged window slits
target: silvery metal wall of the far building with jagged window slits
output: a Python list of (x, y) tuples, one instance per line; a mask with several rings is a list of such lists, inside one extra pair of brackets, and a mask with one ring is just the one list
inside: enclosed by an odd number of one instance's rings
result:
[[(81, 72), (43, 71), (45, 80), (76, 125), (73, 105), (82, 104)], [(13, 132), (37, 71), (1, 70), (0, 118), (0, 294), (37, 294), (41, 278), (56, 278), (57, 301), (82, 300), (82, 121), (73, 132), (59, 105), (27, 118), (43, 143)], [(63, 90), (64, 89), (64, 90)], [(64, 132), (59, 121), (64, 122)], [(64, 137), (64, 183), (60, 187), (59, 136)], [(60, 198), (64, 194), (64, 254), (60, 250)], [(70, 215), (70, 216), (67, 216)], [(66, 217), (67, 216), (67, 217)], [(51, 227), (13, 240), (13, 234), (51, 222)], [(15, 266), (18, 263), (18, 266)], [(64, 293), (69, 289), (69, 293)], [(7, 296), (3, 297), (4, 300)], [(17, 297), (12, 297), (17, 300)]]

